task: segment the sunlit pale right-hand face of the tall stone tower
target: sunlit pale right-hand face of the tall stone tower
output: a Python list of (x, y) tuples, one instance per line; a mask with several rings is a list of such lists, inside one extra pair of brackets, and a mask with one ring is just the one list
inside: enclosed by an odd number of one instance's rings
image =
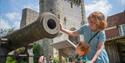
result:
[[(78, 29), (81, 26), (82, 23), (82, 15), (81, 15), (81, 7), (75, 6), (71, 7), (70, 2), (67, 2), (66, 0), (60, 0), (58, 8), (57, 17), (60, 19), (60, 23), (66, 28), (71, 29), (75, 28)], [(85, 10), (85, 9), (83, 9)], [(53, 39), (53, 43), (61, 42), (64, 40), (69, 39), (67, 34), (64, 34), (60, 32), (60, 34)], [(53, 55), (57, 56), (58, 51), (56, 49), (53, 49)]]

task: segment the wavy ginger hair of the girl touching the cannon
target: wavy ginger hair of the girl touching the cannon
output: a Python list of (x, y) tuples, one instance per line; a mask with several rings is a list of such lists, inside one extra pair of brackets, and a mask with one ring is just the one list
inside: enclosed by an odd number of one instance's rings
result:
[(89, 15), (89, 18), (96, 19), (96, 25), (98, 30), (104, 30), (107, 27), (107, 21), (105, 20), (105, 16), (103, 13), (99, 11), (95, 11), (92, 14)]

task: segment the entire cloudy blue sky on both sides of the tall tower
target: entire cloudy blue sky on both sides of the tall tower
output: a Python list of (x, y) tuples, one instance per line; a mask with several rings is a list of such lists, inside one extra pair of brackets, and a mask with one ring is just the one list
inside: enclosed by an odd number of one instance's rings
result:
[[(84, 0), (84, 3), (86, 16), (93, 11), (106, 16), (125, 11), (125, 0)], [(0, 0), (0, 29), (19, 29), (24, 8), (39, 12), (39, 0)]]

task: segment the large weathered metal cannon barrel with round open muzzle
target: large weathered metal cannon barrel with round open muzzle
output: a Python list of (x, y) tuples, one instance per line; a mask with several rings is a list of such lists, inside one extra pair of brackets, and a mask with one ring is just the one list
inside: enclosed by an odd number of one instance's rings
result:
[(59, 30), (58, 18), (52, 13), (43, 13), (35, 22), (6, 36), (9, 50), (26, 46), (43, 38), (54, 38)]

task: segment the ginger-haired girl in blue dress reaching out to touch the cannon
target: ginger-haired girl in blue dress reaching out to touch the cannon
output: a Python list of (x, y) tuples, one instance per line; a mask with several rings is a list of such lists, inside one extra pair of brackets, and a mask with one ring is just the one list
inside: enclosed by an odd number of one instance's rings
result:
[(91, 63), (109, 63), (108, 55), (104, 48), (104, 43), (106, 41), (104, 29), (107, 26), (105, 16), (99, 11), (93, 12), (88, 17), (88, 23), (88, 25), (83, 25), (76, 31), (64, 29), (62, 25), (60, 29), (70, 36), (83, 35), (84, 42), (89, 42), (93, 35), (99, 32), (89, 43), (91, 50), (87, 56), (88, 59), (91, 60)]

